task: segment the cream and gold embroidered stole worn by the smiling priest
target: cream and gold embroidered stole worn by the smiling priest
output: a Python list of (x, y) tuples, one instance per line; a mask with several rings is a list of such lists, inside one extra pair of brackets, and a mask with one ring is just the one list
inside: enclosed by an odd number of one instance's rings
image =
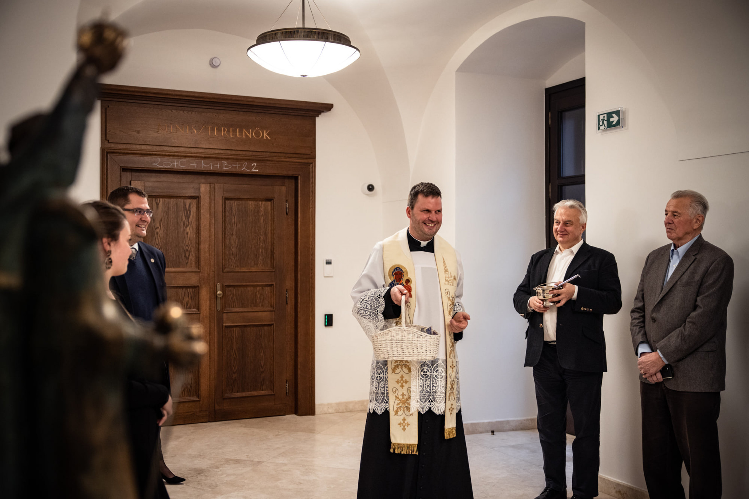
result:
[[(416, 272), (408, 248), (407, 228), (383, 241), (383, 272), (386, 284), (401, 284), (410, 291), (410, 300), (404, 310), (410, 322), (416, 309)], [(445, 438), (455, 437), (457, 412), (455, 340), (449, 330), (455, 290), (458, 287), (458, 258), (455, 250), (440, 236), (434, 236), (434, 260), (440, 280), (440, 295), (445, 317), (445, 351), (447, 379), (445, 390)], [(396, 321), (398, 322), (398, 321)], [(419, 442), (418, 404), (412, 403), (412, 376), (419, 376), (416, 361), (388, 361), (387, 386), (390, 405), (390, 452), (417, 454)], [(418, 397), (418, 394), (413, 394)]]

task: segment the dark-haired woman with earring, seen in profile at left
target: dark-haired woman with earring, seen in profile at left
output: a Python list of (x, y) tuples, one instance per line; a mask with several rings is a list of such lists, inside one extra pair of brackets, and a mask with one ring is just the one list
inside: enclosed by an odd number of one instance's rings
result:
[[(101, 238), (104, 289), (110, 299), (117, 301), (124, 315), (132, 320), (127, 310), (109, 290), (109, 280), (127, 272), (130, 258), (130, 224), (121, 208), (106, 201), (91, 201), (82, 205), (94, 209), (97, 217), (94, 226)], [(161, 480), (155, 452), (159, 437), (159, 426), (172, 415), (172, 397), (166, 386), (146, 379), (144, 376), (127, 377), (127, 426), (130, 439), (130, 455), (139, 498), (169, 499)]]

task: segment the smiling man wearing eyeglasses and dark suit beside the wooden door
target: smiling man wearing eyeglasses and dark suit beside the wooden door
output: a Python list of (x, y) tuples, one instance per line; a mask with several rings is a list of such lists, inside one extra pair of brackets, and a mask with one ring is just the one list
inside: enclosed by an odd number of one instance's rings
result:
[[(154, 212), (148, 206), (148, 195), (133, 186), (122, 186), (109, 193), (107, 200), (120, 206), (130, 224), (130, 248), (133, 251), (127, 263), (127, 272), (112, 278), (109, 289), (118, 296), (127, 311), (134, 317), (150, 321), (160, 304), (166, 301), (166, 260), (157, 248), (143, 242)], [(169, 367), (164, 365), (163, 384), (169, 388)], [(169, 470), (158, 446), (159, 468), (166, 483), (184, 482)]]

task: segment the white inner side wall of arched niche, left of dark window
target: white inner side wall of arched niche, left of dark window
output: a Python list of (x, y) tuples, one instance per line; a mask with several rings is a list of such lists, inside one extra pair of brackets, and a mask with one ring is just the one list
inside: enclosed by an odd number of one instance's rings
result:
[(455, 73), (455, 109), (455, 241), (471, 314), (458, 343), (463, 419), (535, 417), (512, 295), (545, 243), (544, 82)]

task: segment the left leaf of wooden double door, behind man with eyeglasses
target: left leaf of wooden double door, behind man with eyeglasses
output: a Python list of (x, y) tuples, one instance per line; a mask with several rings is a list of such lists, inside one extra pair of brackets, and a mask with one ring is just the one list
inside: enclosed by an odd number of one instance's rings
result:
[[(154, 218), (145, 242), (163, 251), (166, 260), (167, 299), (176, 301), (191, 322), (210, 326), (210, 298), (201, 287), (210, 287), (210, 185), (189, 182), (139, 180), (131, 185), (148, 194)], [(175, 423), (196, 423), (210, 418), (210, 363), (176, 376), (170, 367), (172, 398), (178, 402)]]

